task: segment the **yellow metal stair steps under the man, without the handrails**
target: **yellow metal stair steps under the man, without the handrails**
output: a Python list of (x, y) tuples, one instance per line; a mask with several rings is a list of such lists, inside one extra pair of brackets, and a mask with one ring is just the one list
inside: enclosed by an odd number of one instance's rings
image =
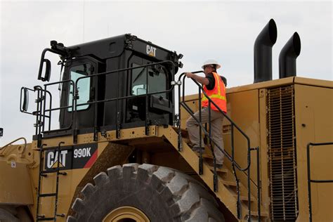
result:
[[(175, 149), (178, 149), (178, 129), (169, 127), (166, 129), (160, 129), (164, 131), (163, 134), (170, 141), (172, 145), (174, 145)], [(183, 131), (185, 132), (185, 131)], [(194, 169), (197, 174), (200, 174), (199, 163), (200, 156), (197, 152), (193, 152), (186, 143), (188, 139), (184, 138), (182, 140), (182, 150), (179, 152), (182, 157), (190, 164), (192, 169)], [(202, 165), (202, 175), (200, 177), (206, 183), (209, 188), (214, 191), (214, 166), (213, 166), (213, 155), (211, 155), (210, 150), (207, 148), (205, 152), (202, 153), (203, 165)], [(225, 160), (226, 161), (226, 160)], [(226, 166), (223, 165), (222, 169), (216, 169), (217, 174), (217, 190), (216, 197), (225, 204), (225, 206), (233, 213), (235, 218), (238, 218), (239, 221), (268, 221), (268, 211), (261, 206), (261, 216), (259, 218), (257, 204), (258, 200), (254, 195), (251, 194), (250, 202), (251, 202), (251, 217), (249, 217), (249, 200), (248, 200), (248, 192), (247, 187), (242, 183), (240, 185), (240, 207), (239, 214), (237, 213), (237, 183), (235, 181), (235, 177), (233, 176), (232, 169), (227, 169)], [(238, 215), (238, 216), (237, 216)]]

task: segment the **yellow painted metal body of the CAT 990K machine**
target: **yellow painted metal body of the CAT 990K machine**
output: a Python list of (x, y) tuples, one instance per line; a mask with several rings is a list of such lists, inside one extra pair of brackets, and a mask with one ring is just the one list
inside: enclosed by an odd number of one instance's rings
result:
[[(287, 220), (288, 215), (281, 212), (288, 213), (289, 211), (296, 214), (296, 221), (308, 220), (306, 146), (308, 143), (332, 141), (332, 88), (332, 81), (289, 77), (227, 89), (228, 117), (233, 119), (249, 136), (252, 148), (259, 147), (262, 221), (280, 221), (284, 217)], [(285, 100), (285, 97), (289, 99)], [(185, 101), (192, 110), (199, 108), (198, 95), (186, 96)], [(275, 103), (280, 103), (277, 106), (278, 110), (274, 110)], [(275, 115), (280, 115), (278, 122), (275, 122)], [(180, 123), (183, 130), (185, 130), (185, 122), (188, 117), (188, 113), (182, 109)], [(287, 124), (289, 125), (285, 128)], [(222, 135), (228, 153), (231, 152), (230, 131), (230, 122), (224, 119)], [(274, 133), (279, 132), (280, 135), (274, 137)], [(245, 168), (247, 166), (247, 144), (240, 137), (240, 133), (237, 131), (234, 133), (235, 161)], [(286, 135), (292, 135), (292, 142), (287, 151), (282, 150), (282, 146), (280, 150), (276, 146), (274, 147), (274, 144), (278, 143), (275, 141), (276, 138), (280, 138), (283, 142), (283, 140), (289, 139), (284, 138)], [(75, 145), (72, 136), (42, 140), (44, 148), (57, 147), (60, 142), (64, 143), (62, 146)], [(68, 215), (73, 214), (72, 204), (77, 197), (81, 197), (80, 191), (86, 183), (93, 183), (93, 178), (97, 174), (107, 171), (111, 166), (128, 163), (133, 153), (136, 153), (136, 159), (132, 159), (132, 162), (167, 166), (197, 178), (214, 194), (220, 203), (220, 210), (223, 211), (226, 221), (237, 221), (235, 215), (236, 198), (226, 183), (226, 181), (235, 183), (233, 182), (233, 169), (230, 161), (225, 159), (226, 166), (224, 167), (228, 171), (228, 175), (218, 179), (218, 191), (214, 192), (214, 175), (209, 169), (209, 164), (204, 163), (203, 174), (199, 175), (198, 157), (186, 145), (185, 139), (182, 141), (183, 150), (178, 151), (178, 131), (175, 127), (150, 126), (149, 136), (145, 135), (145, 127), (122, 129), (120, 138), (116, 137), (116, 131), (107, 131), (105, 135), (98, 133), (97, 141), (93, 141), (93, 133), (77, 136), (77, 145), (89, 143), (98, 144), (98, 154), (94, 163), (89, 168), (64, 170), (67, 175), (60, 176), (58, 212), (65, 214), (65, 217), (59, 217), (57, 221), (65, 221)], [(205, 155), (211, 155), (211, 152), (206, 150)], [(311, 148), (311, 178), (332, 179), (332, 157), (332, 145)], [(285, 174), (282, 175), (292, 175), (290, 178), (292, 184), (282, 184), (279, 188), (276, 182), (273, 182), (276, 180), (274, 161), (277, 159), (280, 159), (281, 163), (278, 167), (287, 167), (288, 170), (284, 171)], [(289, 159), (291, 159), (292, 165), (289, 164)], [(39, 164), (44, 163), (39, 163), (37, 141), (33, 141), (25, 149), (22, 149), (22, 145), (9, 145), (6, 148), (1, 148), (0, 204), (2, 206), (27, 206), (32, 218), (36, 218)], [(258, 198), (256, 152), (252, 152), (250, 167), (252, 172), (250, 176), (252, 179), (251, 195), (254, 198), (252, 209), (254, 212)], [(289, 170), (292, 170), (290, 174)], [(236, 173), (242, 184), (241, 190), (243, 187), (246, 189), (246, 176), (240, 171)], [(55, 192), (55, 174), (49, 174), (42, 180), (41, 190), (43, 192)], [(282, 181), (288, 182), (288, 180)], [(284, 192), (287, 192), (284, 187), (287, 185), (294, 188), (290, 192), (294, 195), (292, 198), (283, 195)], [(333, 184), (312, 183), (311, 186), (313, 190), (311, 196), (313, 221), (332, 221)], [(244, 189), (242, 195), (246, 196)], [(281, 192), (282, 195), (275, 197), (277, 192)], [(54, 213), (54, 198), (43, 198), (39, 211), (46, 216), (52, 215)], [(292, 204), (287, 203), (290, 200), (292, 200)], [(244, 203), (246, 200), (244, 199), (242, 202)], [(276, 203), (282, 204), (275, 207)], [(113, 215), (111, 213), (110, 215)], [(242, 215), (244, 218), (246, 214), (243, 206)]]

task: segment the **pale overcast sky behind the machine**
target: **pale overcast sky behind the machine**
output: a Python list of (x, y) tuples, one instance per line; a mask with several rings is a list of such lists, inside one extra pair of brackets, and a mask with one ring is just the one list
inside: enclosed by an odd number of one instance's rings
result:
[[(273, 79), (279, 76), (282, 47), (298, 32), (297, 76), (332, 81), (332, 1), (0, 0), (0, 146), (21, 136), (32, 141), (35, 119), (20, 112), (20, 89), (44, 84), (37, 72), (41, 51), (51, 40), (72, 46), (131, 33), (182, 53), (178, 74), (217, 60), (219, 74), (233, 87), (253, 83), (254, 41), (270, 18), (278, 27)], [(48, 55), (51, 81), (58, 81), (59, 58)]]

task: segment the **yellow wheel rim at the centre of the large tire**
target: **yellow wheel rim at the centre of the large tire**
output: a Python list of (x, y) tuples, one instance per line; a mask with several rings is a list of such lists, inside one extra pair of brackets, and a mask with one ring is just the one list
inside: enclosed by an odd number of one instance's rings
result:
[(150, 220), (140, 209), (126, 206), (111, 211), (103, 222), (150, 222)]

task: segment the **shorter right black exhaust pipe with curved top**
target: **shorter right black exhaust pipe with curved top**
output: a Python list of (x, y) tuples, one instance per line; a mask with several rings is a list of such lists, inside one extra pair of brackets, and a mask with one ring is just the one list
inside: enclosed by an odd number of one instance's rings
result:
[(279, 77), (296, 77), (296, 58), (301, 53), (301, 39), (295, 32), (283, 46), (279, 55)]

